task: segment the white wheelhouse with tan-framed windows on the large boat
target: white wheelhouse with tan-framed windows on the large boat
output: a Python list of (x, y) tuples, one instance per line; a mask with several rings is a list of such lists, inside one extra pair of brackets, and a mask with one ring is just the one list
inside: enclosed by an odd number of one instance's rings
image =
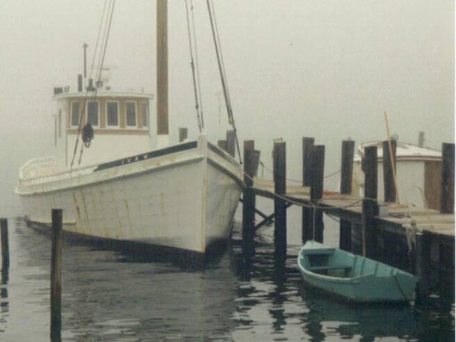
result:
[[(92, 92), (60, 92), (54, 96), (57, 109), (54, 116), (54, 146), (56, 168), (70, 168), (74, 145), (81, 129), (90, 123), (94, 138), (90, 147), (83, 147), (80, 165), (92, 165), (115, 158), (148, 151), (150, 142), (149, 101), (151, 94), (136, 92), (100, 91), (94, 99)], [(79, 166), (81, 141), (73, 168)]]

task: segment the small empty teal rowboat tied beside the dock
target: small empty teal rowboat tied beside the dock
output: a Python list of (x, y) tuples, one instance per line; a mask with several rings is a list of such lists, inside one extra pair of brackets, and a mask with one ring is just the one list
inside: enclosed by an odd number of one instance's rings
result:
[(304, 282), (355, 302), (407, 302), (418, 278), (359, 255), (307, 241), (298, 256)]

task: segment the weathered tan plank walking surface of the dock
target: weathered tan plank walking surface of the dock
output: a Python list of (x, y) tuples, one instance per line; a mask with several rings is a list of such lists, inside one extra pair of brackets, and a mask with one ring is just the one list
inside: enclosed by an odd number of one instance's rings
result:
[[(254, 193), (273, 199), (274, 181), (272, 179), (254, 178)], [(298, 184), (286, 184), (284, 197), (291, 202), (310, 204), (310, 188)], [(361, 224), (361, 197), (341, 195), (333, 191), (324, 191), (323, 199), (318, 201), (318, 206), (325, 207), (323, 211), (344, 220)], [(385, 215), (375, 218), (378, 227), (397, 234), (407, 234), (407, 229), (412, 228), (412, 221), (416, 222), (416, 229), (423, 233), (438, 236), (447, 243), (455, 240), (455, 214), (442, 214), (439, 211), (416, 208), (407, 208), (403, 204), (379, 202), (380, 206), (387, 207)], [(386, 209), (386, 208), (382, 208)]]

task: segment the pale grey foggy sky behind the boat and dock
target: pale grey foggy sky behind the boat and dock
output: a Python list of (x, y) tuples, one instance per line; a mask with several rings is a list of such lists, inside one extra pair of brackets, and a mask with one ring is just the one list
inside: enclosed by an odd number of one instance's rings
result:
[[(225, 136), (206, 1), (194, 0), (206, 131)], [(17, 168), (52, 154), (54, 86), (76, 87), (83, 42), (91, 60), (103, 0), (0, 0), (0, 215), (17, 213)], [(302, 136), (327, 145), (339, 168), (341, 140), (392, 133), (437, 149), (454, 141), (455, 2), (214, 0), (239, 138), (271, 163), (287, 142), (288, 177), (300, 177)], [(117, 0), (106, 65), (113, 90), (155, 93), (155, 1)], [(185, 4), (169, 1), (170, 133), (197, 133)], [(221, 101), (219, 101), (219, 99)], [(155, 101), (152, 102), (154, 128)], [(96, 137), (93, 143), (96, 143)], [(122, 142), (119, 142), (122, 143)], [(266, 174), (267, 175), (267, 174)], [(334, 188), (337, 179), (328, 179)]]

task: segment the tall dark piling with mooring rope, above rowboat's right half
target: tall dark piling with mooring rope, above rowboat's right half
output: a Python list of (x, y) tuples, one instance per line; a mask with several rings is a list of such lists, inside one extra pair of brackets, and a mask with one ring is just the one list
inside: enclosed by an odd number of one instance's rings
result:
[(364, 199), (362, 203), (362, 253), (376, 259), (377, 235), (374, 217), (378, 215), (377, 204), (377, 146), (364, 149)]

